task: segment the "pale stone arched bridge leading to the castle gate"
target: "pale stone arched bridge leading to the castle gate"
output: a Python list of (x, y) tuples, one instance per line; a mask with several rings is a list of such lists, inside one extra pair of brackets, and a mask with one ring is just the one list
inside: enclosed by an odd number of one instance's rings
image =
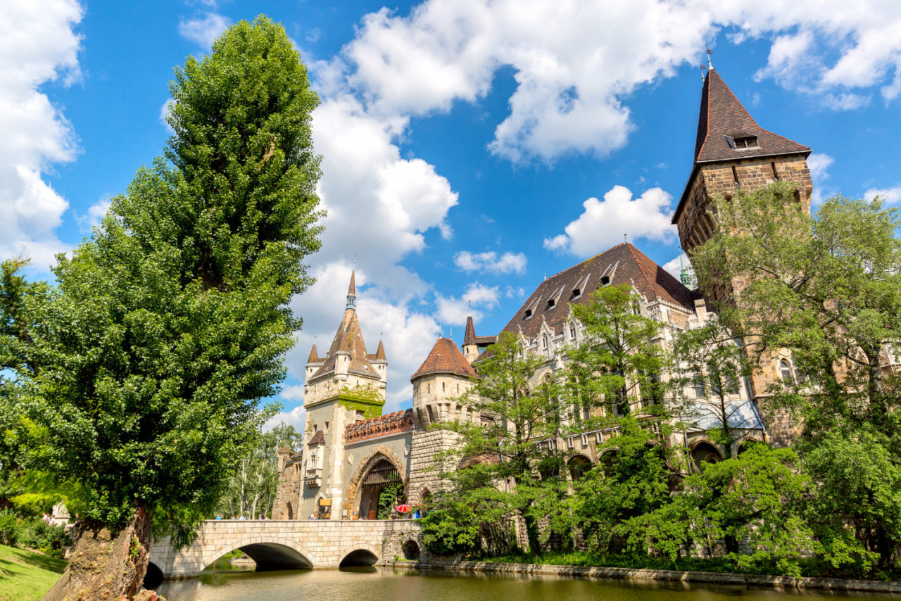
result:
[(190, 547), (177, 551), (168, 537), (150, 550), (156, 578), (190, 578), (241, 549), (257, 569), (338, 568), (417, 559), (415, 520), (207, 520)]

